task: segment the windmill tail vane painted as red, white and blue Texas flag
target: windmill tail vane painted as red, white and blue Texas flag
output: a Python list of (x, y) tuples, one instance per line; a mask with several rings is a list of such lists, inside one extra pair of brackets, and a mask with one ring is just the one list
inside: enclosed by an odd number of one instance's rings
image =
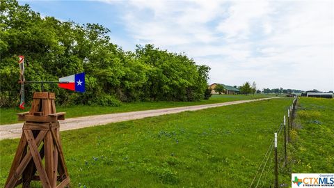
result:
[(60, 88), (66, 88), (72, 91), (79, 91), (81, 93), (85, 92), (85, 72), (81, 72), (76, 75), (70, 75), (67, 77), (62, 77), (59, 81), (68, 81), (68, 83), (60, 83), (58, 86)]

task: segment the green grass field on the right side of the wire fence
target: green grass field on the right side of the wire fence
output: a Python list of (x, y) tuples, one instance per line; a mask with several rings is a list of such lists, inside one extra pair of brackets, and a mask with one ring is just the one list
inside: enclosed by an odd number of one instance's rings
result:
[(289, 175), (333, 173), (334, 99), (300, 97), (297, 107), (296, 129), (289, 144)]

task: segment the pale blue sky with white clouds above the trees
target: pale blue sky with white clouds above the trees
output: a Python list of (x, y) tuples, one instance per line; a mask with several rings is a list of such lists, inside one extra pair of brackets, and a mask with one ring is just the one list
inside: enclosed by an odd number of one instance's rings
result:
[(209, 65), (209, 83), (334, 90), (333, 1), (19, 1), (99, 23), (125, 50), (152, 43)]

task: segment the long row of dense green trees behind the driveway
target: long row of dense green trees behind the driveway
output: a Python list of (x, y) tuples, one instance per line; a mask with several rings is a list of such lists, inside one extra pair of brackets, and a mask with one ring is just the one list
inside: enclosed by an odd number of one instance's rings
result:
[[(1, 1), (0, 10), (0, 107), (18, 104), (18, 55), (26, 57), (27, 81), (57, 81), (58, 77), (86, 72), (86, 93), (45, 85), (46, 91), (56, 93), (58, 104), (117, 106), (138, 100), (194, 101), (209, 97), (210, 68), (196, 65), (184, 53), (150, 44), (125, 52), (111, 42), (110, 30), (100, 24), (80, 25), (42, 17), (16, 0)], [(29, 102), (40, 85), (29, 84), (25, 90)]]

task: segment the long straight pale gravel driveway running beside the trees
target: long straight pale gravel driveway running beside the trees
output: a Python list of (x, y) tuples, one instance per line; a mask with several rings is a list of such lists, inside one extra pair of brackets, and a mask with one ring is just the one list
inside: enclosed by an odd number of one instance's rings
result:
[[(259, 100), (275, 99), (278, 97), (269, 97), (256, 100), (238, 100), (232, 102), (223, 102), (215, 104), (202, 104), (189, 107), (176, 107), (168, 109), (153, 109), (145, 111), (132, 111), (124, 113), (110, 113), (97, 116), (85, 116), (79, 118), (68, 118), (61, 120), (61, 131), (65, 130), (77, 130), (84, 127), (92, 127), (98, 125), (106, 125), (108, 123), (115, 123), (125, 120), (136, 120), (141, 118), (147, 118), (152, 116), (161, 116), (170, 113), (180, 113), (182, 111), (196, 111), (200, 109), (208, 109), (214, 107), (228, 106), (232, 104), (241, 104), (245, 102), (254, 102)], [(15, 123), (10, 125), (0, 125), (0, 140), (1, 139), (15, 139), (19, 138), (22, 134), (23, 123)]]

